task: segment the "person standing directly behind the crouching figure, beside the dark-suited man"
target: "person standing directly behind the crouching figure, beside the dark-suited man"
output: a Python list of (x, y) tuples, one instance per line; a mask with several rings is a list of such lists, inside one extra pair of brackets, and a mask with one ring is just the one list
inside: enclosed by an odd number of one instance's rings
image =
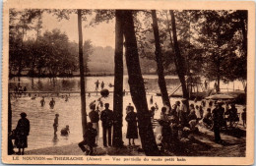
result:
[(99, 129), (98, 129), (98, 121), (99, 121), (99, 114), (96, 112), (96, 104), (93, 104), (90, 106), (91, 112), (89, 113), (89, 118), (91, 122), (93, 123), (93, 128), (96, 129), (96, 144), (98, 140), (99, 135)]

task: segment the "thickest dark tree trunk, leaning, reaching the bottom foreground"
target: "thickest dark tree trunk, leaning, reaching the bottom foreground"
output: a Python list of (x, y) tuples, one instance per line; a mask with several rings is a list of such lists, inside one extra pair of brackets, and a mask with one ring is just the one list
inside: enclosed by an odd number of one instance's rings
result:
[(158, 156), (160, 151), (153, 133), (151, 116), (148, 109), (146, 91), (142, 78), (132, 11), (123, 12), (125, 57), (133, 103), (137, 109), (139, 134), (146, 155)]

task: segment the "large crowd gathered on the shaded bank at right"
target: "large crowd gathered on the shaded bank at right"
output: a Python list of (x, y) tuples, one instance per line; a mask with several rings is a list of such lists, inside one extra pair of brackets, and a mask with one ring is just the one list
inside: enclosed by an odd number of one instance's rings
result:
[[(154, 114), (152, 116), (154, 117)], [(245, 127), (246, 108), (243, 109), (241, 118)], [(238, 121), (239, 116), (234, 103), (218, 100), (209, 101), (207, 106), (205, 100), (198, 105), (196, 100), (194, 103), (188, 104), (186, 99), (182, 99), (181, 102), (176, 101), (170, 109), (167, 106), (161, 108), (159, 120), (161, 143), (167, 146), (177, 138), (199, 132), (197, 128), (199, 122), (214, 131), (215, 141), (220, 143), (222, 142), (221, 130), (233, 128)]]

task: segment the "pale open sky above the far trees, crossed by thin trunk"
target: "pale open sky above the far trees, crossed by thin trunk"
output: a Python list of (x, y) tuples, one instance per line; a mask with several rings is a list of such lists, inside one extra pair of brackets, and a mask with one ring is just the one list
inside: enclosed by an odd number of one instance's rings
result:
[[(91, 19), (89, 19), (91, 20)], [(114, 48), (114, 20), (110, 21), (108, 24), (101, 23), (95, 27), (86, 27), (89, 22), (82, 23), (83, 30), (83, 40), (91, 39), (94, 46), (111, 46)], [(70, 41), (78, 42), (78, 18), (77, 14), (72, 14), (70, 20), (58, 21), (55, 16), (44, 13), (42, 15), (42, 33), (48, 29), (52, 30), (54, 28), (59, 28), (62, 32), (65, 32)], [(41, 33), (41, 34), (42, 34)]]

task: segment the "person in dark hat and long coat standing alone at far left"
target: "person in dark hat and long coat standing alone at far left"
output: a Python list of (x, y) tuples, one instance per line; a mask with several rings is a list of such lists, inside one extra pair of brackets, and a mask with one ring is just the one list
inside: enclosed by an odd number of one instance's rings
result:
[[(18, 154), (24, 155), (24, 148), (28, 147), (28, 136), (30, 135), (30, 121), (26, 118), (27, 114), (25, 112), (21, 113), (21, 119), (18, 121), (16, 127), (16, 139), (15, 145), (19, 148)], [(21, 152), (22, 149), (22, 152)]]

